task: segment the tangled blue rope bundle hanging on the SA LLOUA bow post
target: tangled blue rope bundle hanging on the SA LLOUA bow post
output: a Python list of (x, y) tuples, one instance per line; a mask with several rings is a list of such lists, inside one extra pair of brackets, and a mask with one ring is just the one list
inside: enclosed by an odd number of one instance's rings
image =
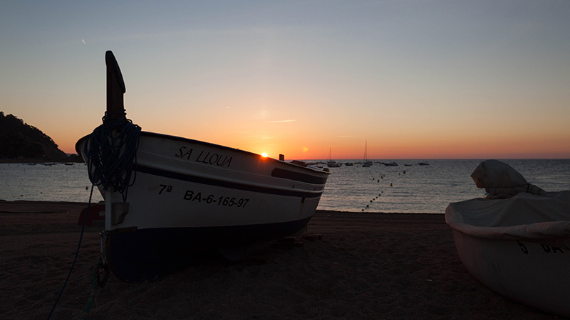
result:
[[(124, 111), (122, 111), (124, 114)], [(140, 127), (130, 119), (109, 117), (105, 112), (103, 124), (93, 130), (84, 146), (87, 158), (89, 180), (95, 186), (103, 186), (103, 190), (113, 187), (113, 191), (123, 195), (127, 201), (131, 173), (137, 165), (137, 149)]]

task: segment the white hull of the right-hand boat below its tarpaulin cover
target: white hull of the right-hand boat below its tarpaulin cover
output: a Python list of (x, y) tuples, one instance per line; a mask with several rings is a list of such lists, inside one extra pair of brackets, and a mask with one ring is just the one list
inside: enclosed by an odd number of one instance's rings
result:
[(453, 230), (465, 268), (489, 289), (570, 317), (570, 238), (497, 240)]

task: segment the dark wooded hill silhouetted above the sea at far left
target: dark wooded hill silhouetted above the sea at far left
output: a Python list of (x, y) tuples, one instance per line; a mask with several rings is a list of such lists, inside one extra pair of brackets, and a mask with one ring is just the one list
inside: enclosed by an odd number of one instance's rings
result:
[(40, 129), (26, 124), (12, 114), (0, 111), (0, 159), (71, 161), (67, 154)]

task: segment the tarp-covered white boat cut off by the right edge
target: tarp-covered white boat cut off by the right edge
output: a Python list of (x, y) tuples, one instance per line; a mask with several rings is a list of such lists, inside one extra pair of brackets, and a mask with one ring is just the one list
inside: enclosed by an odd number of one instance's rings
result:
[(570, 191), (546, 192), (495, 160), (472, 178), (487, 198), (445, 210), (463, 265), (505, 297), (570, 317)]

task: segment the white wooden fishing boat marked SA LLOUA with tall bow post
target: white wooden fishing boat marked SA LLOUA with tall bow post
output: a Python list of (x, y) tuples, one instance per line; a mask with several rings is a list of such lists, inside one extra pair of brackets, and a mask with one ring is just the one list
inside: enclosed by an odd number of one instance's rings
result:
[[(104, 137), (95, 129), (76, 150), (105, 199), (102, 257), (117, 277), (156, 279), (187, 266), (197, 252), (239, 251), (306, 226), (326, 169), (140, 132), (125, 117), (125, 85), (113, 53), (105, 60), (108, 106), (101, 127), (123, 127)], [(115, 170), (121, 166), (126, 169)]]

